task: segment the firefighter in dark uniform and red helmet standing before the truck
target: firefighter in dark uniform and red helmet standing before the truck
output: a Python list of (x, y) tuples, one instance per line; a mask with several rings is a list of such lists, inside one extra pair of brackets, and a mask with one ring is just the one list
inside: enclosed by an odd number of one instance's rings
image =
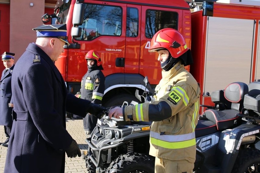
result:
[[(105, 91), (105, 76), (101, 71), (103, 70), (101, 58), (97, 51), (90, 50), (86, 54), (85, 59), (88, 65), (88, 71), (82, 77), (81, 89), (76, 96), (101, 105)], [(83, 118), (83, 128), (87, 138), (90, 137), (90, 134), (96, 127), (97, 119), (97, 117), (89, 113)]]

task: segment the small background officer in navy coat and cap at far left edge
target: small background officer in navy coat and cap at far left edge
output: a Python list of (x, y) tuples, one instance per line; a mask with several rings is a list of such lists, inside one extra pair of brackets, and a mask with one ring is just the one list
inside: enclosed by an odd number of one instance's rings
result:
[(2, 72), (0, 80), (0, 125), (4, 125), (5, 136), (7, 139), (1, 143), (2, 146), (8, 147), (10, 133), (12, 129), (12, 107), (9, 107), (12, 97), (11, 78), (14, 67), (14, 53), (5, 52), (2, 56), (5, 69)]

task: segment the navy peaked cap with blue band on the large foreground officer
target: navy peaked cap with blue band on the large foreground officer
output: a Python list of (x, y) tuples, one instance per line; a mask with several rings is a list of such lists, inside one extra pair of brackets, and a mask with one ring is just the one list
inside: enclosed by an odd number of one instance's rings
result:
[(64, 41), (65, 44), (70, 45), (67, 37), (67, 26), (64, 24), (57, 25), (41, 25), (33, 30), (37, 30), (37, 37), (55, 37)]

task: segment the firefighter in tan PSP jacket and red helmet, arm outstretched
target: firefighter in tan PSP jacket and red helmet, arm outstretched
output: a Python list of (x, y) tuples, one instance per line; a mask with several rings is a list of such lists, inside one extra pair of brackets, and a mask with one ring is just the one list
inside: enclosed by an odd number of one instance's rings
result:
[(159, 54), (162, 68), (162, 79), (155, 88), (155, 101), (115, 107), (109, 116), (123, 116), (125, 121), (153, 121), (150, 155), (155, 157), (155, 172), (192, 173), (200, 87), (184, 68), (192, 63), (190, 49), (177, 30), (165, 28), (153, 36), (149, 52)]

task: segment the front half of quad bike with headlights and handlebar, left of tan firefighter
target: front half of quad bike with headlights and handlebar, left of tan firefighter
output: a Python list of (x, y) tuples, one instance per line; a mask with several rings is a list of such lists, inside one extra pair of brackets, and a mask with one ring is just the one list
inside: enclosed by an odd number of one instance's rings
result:
[[(148, 79), (144, 82), (147, 85)], [(148, 90), (139, 95), (141, 102), (149, 102), (152, 93)], [(137, 102), (131, 102), (137, 104)], [(123, 105), (128, 105), (124, 103)], [(151, 122), (125, 122), (123, 118), (108, 118), (104, 115), (98, 119), (88, 143), (88, 155), (85, 157), (89, 173), (128, 173), (128, 172), (154, 172), (154, 157), (149, 155), (149, 136)]]

